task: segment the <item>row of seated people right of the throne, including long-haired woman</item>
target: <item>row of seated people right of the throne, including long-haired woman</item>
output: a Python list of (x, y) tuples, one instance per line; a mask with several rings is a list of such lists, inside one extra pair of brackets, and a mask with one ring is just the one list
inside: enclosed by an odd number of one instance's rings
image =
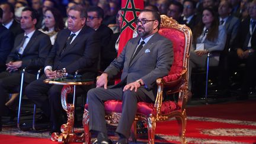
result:
[[(229, 78), (236, 71), (240, 63), (245, 63), (245, 73), (242, 75), (241, 91), (237, 99), (248, 98), (248, 90), (255, 81), (252, 73), (255, 66), (255, 21), (256, 1), (248, 4), (248, 17), (242, 21), (231, 15), (231, 4), (221, 1), (218, 13), (213, 8), (204, 8), (201, 21), (192, 28), (193, 49), (190, 53), (190, 82), (188, 89), (191, 91), (191, 72), (193, 68), (206, 68), (207, 53), (220, 51), (220, 55), (210, 57), (210, 66), (219, 65), (219, 88), (229, 91)], [(219, 17), (218, 17), (219, 16)], [(221, 92), (222, 94), (222, 92)], [(226, 96), (229, 92), (225, 92)], [(189, 92), (191, 96), (192, 93)]]

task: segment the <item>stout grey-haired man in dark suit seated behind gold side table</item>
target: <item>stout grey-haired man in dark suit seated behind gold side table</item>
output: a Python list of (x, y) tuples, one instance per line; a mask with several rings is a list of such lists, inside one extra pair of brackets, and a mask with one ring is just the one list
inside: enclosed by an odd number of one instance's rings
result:
[[(60, 103), (62, 85), (44, 84), (44, 79), (60, 78), (60, 75), (57, 75), (59, 70), (73, 75), (77, 69), (97, 69), (100, 46), (95, 31), (85, 25), (86, 20), (87, 12), (81, 5), (74, 5), (69, 9), (68, 28), (59, 31), (44, 64), (44, 75), (25, 88), (25, 95), (50, 117), (50, 133), (60, 132), (60, 125), (64, 123), (60, 119), (63, 111)], [(88, 72), (84, 77), (95, 78), (95, 74)]]

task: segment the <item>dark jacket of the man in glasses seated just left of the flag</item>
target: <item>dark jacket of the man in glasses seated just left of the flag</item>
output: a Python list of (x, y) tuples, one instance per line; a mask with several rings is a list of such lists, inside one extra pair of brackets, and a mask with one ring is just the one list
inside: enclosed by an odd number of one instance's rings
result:
[(112, 57), (108, 55), (108, 43), (110, 43), (111, 36), (113, 31), (104, 24), (101, 24), (100, 27), (96, 30), (97, 37), (100, 39), (101, 44), (101, 59), (100, 59), (100, 69), (103, 71), (110, 64), (108, 59)]

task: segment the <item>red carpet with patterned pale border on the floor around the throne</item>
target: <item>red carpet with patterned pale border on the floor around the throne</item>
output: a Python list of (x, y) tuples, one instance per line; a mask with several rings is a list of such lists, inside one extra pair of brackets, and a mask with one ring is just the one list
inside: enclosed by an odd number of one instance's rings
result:
[[(256, 143), (256, 106), (254, 101), (227, 104), (201, 105), (187, 108), (188, 143)], [(114, 131), (111, 129), (110, 131)], [(16, 135), (16, 136), (10, 136)], [(17, 136), (18, 135), (18, 136)], [(41, 135), (41, 134), (40, 134)], [(3, 127), (0, 132), (0, 144), (21, 143), (40, 144), (57, 143), (50, 141), (49, 135), (40, 136), (32, 132), (18, 132), (16, 128)], [(24, 137), (27, 136), (27, 137)], [(36, 137), (49, 137), (36, 138)], [(176, 121), (156, 124), (156, 143), (180, 143)], [(113, 141), (117, 137), (110, 137)], [(147, 135), (137, 140), (146, 143)]]

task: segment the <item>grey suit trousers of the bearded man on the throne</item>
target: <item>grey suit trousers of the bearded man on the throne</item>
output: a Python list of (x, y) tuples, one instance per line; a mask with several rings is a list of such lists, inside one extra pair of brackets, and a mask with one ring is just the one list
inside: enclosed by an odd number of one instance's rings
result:
[(104, 101), (107, 100), (123, 100), (121, 120), (117, 126), (116, 132), (129, 137), (130, 128), (132, 127), (135, 114), (137, 112), (137, 103), (146, 101), (152, 103), (149, 98), (140, 88), (137, 92), (124, 91), (120, 88), (94, 88), (88, 91), (89, 104), (89, 130), (107, 133), (105, 123)]

